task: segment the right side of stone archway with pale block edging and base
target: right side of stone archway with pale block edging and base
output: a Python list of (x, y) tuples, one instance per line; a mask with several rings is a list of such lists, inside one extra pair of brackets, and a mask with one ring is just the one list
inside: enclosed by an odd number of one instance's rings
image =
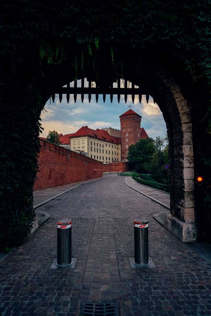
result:
[[(135, 69), (134, 65), (132, 69)], [(126, 72), (128, 78), (135, 77), (138, 85), (139, 75), (133, 70)], [(197, 238), (192, 119), (188, 100), (172, 76), (160, 65), (146, 65), (141, 80), (163, 113), (169, 138), (171, 214), (166, 217), (165, 227), (180, 240), (191, 241)]]

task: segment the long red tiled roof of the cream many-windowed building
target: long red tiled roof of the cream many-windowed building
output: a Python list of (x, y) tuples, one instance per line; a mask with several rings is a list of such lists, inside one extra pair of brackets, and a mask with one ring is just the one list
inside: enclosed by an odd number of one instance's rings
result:
[[(116, 144), (121, 143), (120, 137), (110, 136), (107, 131), (100, 130), (100, 129), (92, 130), (91, 128), (88, 128), (86, 126), (82, 126), (76, 133), (64, 135), (63, 137), (60, 138), (60, 141), (63, 140), (64, 138), (66, 139), (70, 137), (80, 137), (80, 136), (91, 136), (91, 137), (95, 137), (101, 140), (105, 140), (107, 142), (112, 142)], [(70, 143), (70, 140), (68, 144), (69, 143)], [(65, 142), (63, 142), (62, 144), (65, 144)]]

